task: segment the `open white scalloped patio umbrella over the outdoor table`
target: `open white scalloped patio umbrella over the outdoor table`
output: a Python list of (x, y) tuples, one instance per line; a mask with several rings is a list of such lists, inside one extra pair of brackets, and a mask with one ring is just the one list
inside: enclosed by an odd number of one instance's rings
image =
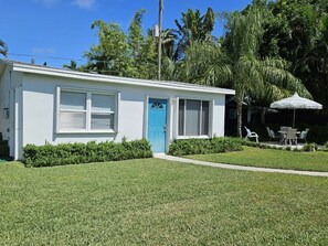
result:
[(274, 101), (269, 105), (271, 108), (279, 108), (279, 109), (293, 109), (293, 127), (295, 125), (295, 111), (296, 109), (322, 109), (322, 105), (300, 97), (297, 93), (294, 94), (292, 97), (287, 97), (277, 101)]

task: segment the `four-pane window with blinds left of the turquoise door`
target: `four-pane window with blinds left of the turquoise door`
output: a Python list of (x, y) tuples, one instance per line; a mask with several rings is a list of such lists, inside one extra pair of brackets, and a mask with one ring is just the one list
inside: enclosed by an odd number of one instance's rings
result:
[(114, 131), (115, 94), (60, 90), (59, 131)]

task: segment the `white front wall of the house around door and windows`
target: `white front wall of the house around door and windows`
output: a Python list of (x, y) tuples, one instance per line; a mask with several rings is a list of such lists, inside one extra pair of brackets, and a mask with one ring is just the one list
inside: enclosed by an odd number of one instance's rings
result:
[[(56, 88), (78, 88), (85, 92), (118, 92), (118, 132), (117, 133), (56, 133)], [(210, 100), (213, 108), (211, 135), (224, 136), (224, 101), (225, 96), (214, 93), (183, 92), (146, 86), (121, 85), (93, 81), (78, 81), (47, 75), (24, 74), (22, 87), (22, 136), (21, 148), (28, 143), (36, 146), (63, 142), (121, 141), (147, 137), (148, 101), (151, 98), (168, 99), (168, 131), (169, 141), (177, 138), (178, 101), (177, 98)], [(211, 103), (212, 101), (212, 103)], [(211, 115), (211, 114), (210, 114)], [(211, 120), (212, 119), (212, 120)], [(146, 124), (145, 124), (146, 122)], [(211, 127), (210, 127), (211, 128)], [(19, 151), (19, 159), (22, 151)]]

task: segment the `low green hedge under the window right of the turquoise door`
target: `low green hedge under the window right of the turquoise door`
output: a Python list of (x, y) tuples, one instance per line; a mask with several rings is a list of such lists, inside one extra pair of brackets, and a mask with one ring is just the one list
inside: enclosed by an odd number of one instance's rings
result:
[(181, 139), (170, 145), (169, 154), (187, 156), (200, 153), (221, 153), (243, 150), (242, 139), (239, 138), (212, 138), (212, 139)]

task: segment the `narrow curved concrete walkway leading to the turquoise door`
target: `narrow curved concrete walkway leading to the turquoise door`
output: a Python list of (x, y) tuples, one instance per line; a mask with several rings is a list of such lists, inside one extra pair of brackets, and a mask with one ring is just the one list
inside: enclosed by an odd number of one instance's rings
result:
[(241, 171), (250, 171), (250, 172), (275, 172), (275, 173), (286, 173), (286, 174), (297, 174), (297, 175), (309, 175), (309, 177), (328, 177), (328, 172), (297, 171), (297, 170), (285, 170), (285, 169), (269, 169), (269, 168), (223, 164), (223, 163), (214, 163), (209, 161), (191, 160), (191, 159), (166, 156), (166, 154), (155, 154), (154, 157), (158, 159), (167, 160), (167, 161), (177, 161), (177, 162), (207, 165), (207, 167), (213, 167), (213, 168), (220, 168), (220, 169), (232, 169), (232, 170), (241, 170)]

